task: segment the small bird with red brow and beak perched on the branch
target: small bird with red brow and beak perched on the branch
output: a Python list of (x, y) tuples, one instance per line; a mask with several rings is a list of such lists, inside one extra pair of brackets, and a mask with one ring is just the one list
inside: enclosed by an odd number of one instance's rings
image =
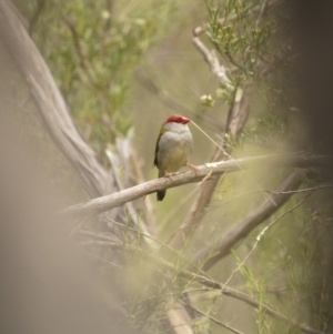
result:
[[(198, 172), (196, 168), (189, 164), (192, 153), (193, 139), (188, 126), (189, 119), (173, 115), (163, 123), (157, 142), (154, 165), (159, 169), (159, 178), (169, 176), (186, 165)], [(167, 190), (157, 192), (158, 201), (162, 201)]]

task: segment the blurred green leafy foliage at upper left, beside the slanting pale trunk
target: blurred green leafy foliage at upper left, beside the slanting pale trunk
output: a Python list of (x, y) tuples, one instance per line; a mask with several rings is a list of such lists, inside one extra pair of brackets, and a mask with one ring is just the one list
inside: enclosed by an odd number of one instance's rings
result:
[[(133, 70), (175, 8), (172, 0), (112, 2), (47, 1), (33, 31), (77, 124), (101, 158), (105, 144), (131, 126)], [(21, 4), (30, 18), (39, 6)]]

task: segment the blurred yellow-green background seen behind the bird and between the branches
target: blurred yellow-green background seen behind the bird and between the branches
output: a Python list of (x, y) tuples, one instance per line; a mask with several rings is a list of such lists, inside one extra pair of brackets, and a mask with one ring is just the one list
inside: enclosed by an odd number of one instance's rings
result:
[[(224, 138), (232, 146), (233, 158), (303, 149), (306, 129), (293, 101), (295, 88), (290, 71), (293, 54), (291, 52), (287, 61), (273, 62), (275, 58), (283, 59), (279, 51), (289, 44), (289, 37), (274, 16), (259, 24), (255, 17), (241, 14), (246, 8), (262, 4), (261, 1), (14, 2), (30, 22), (32, 39), (50, 67), (80, 133), (107, 169), (110, 165), (105, 149), (112, 150), (115, 139), (127, 136), (133, 129), (137, 163), (145, 180), (157, 178), (152, 161), (160, 126), (167, 117), (180, 113), (192, 119), (214, 141)], [(220, 31), (214, 19), (228, 10), (242, 19)], [(251, 82), (253, 85), (250, 117), (242, 134), (234, 141), (223, 132), (231, 91), (221, 88), (191, 40), (193, 29), (208, 23), (208, 34), (202, 34), (201, 39), (210, 50), (214, 49), (230, 71), (232, 84)], [(245, 55), (249, 52), (246, 42), (252, 47), (250, 59)], [(221, 45), (231, 48), (232, 60), (244, 61), (243, 64), (235, 67), (231, 58), (225, 57), (226, 48), (219, 49)], [(260, 61), (274, 63), (268, 65), (269, 74), (264, 78), (254, 71)], [(201, 98), (209, 94), (214, 103), (204, 105)], [(190, 128), (194, 138), (191, 162), (203, 164), (212, 156), (215, 145), (193, 124)], [(307, 149), (315, 151), (316, 148), (313, 144)], [(63, 174), (67, 173), (63, 169)], [(260, 205), (266, 196), (262, 190), (273, 190), (289, 173), (290, 170), (262, 165), (228, 174), (215, 190), (188, 252), (195, 253), (211, 243), (215, 235)], [(53, 183), (57, 182), (50, 179), (50, 184)], [(304, 180), (304, 184), (310, 186), (311, 182)], [(198, 186), (193, 184), (171, 189), (162, 203), (157, 203), (154, 194), (149, 195), (162, 241), (167, 241), (183, 222), (196, 192)], [(323, 328), (325, 316), (330, 317), (330, 314), (313, 311), (319, 304), (325, 304), (325, 297), (319, 298), (321, 293), (314, 293), (316, 287), (312, 284), (311, 273), (320, 269), (321, 257), (316, 245), (320, 241), (314, 236), (320, 234), (324, 242), (327, 241), (321, 234), (323, 225), (317, 224), (316, 205), (321, 202), (321, 212), (324, 212), (327, 203), (322, 195), (312, 199), (266, 231), (231, 285), (243, 289), (291, 318), (306, 322), (312, 317), (311, 324)], [(301, 200), (302, 194), (294, 195), (270, 220), (274, 221)], [(249, 254), (261, 230), (255, 229), (233, 256), (216, 265), (210, 274), (225, 282)], [(325, 295), (324, 285), (319, 289)], [(272, 325), (272, 320), (261, 310), (254, 311), (239, 301), (211, 296), (206, 304), (213, 306), (214, 316), (244, 333), (299, 333), (296, 327), (275, 322)], [(202, 305), (205, 306), (204, 302)], [(224, 333), (216, 325), (212, 328), (213, 333)]]

